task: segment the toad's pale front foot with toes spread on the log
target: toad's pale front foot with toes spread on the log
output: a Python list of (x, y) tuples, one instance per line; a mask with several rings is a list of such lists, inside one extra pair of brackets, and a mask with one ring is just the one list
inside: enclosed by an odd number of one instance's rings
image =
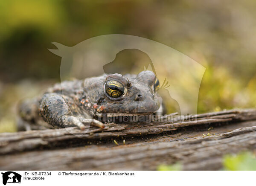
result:
[(86, 128), (84, 124), (91, 124), (100, 128), (104, 128), (105, 125), (102, 122), (99, 122), (96, 119), (86, 119), (82, 117), (74, 117), (74, 116), (62, 116), (62, 122), (64, 127), (73, 127), (76, 126), (80, 128), (82, 131)]

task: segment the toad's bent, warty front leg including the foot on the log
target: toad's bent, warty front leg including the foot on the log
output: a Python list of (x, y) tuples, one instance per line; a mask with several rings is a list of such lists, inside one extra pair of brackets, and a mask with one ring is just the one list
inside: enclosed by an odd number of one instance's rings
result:
[(84, 124), (91, 124), (104, 128), (104, 124), (96, 119), (85, 119), (72, 116), (72, 112), (65, 99), (58, 93), (46, 93), (39, 102), (40, 115), (54, 128), (76, 126), (85, 129)]

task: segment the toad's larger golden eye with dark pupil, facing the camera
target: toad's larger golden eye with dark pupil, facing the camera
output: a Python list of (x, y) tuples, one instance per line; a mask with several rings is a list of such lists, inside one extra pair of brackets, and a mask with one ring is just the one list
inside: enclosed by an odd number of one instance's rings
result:
[(118, 98), (123, 95), (125, 87), (118, 81), (109, 80), (105, 83), (105, 90), (108, 96), (111, 96), (112, 98)]

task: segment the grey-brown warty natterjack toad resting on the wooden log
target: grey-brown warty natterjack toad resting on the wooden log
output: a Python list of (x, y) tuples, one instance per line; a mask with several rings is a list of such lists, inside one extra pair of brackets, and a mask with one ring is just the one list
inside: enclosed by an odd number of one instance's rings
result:
[(159, 81), (151, 71), (64, 81), (50, 87), (38, 99), (20, 105), (20, 116), (25, 125), (19, 125), (19, 129), (76, 126), (84, 130), (87, 124), (104, 128), (104, 124), (97, 120), (103, 114), (116, 117), (154, 113), (159, 108), (158, 88)]

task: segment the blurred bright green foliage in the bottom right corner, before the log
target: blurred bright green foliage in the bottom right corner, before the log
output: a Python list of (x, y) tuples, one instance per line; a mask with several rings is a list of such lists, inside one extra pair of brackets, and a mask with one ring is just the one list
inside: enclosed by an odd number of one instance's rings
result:
[(256, 171), (256, 157), (248, 151), (226, 155), (223, 158), (223, 166), (226, 171)]

